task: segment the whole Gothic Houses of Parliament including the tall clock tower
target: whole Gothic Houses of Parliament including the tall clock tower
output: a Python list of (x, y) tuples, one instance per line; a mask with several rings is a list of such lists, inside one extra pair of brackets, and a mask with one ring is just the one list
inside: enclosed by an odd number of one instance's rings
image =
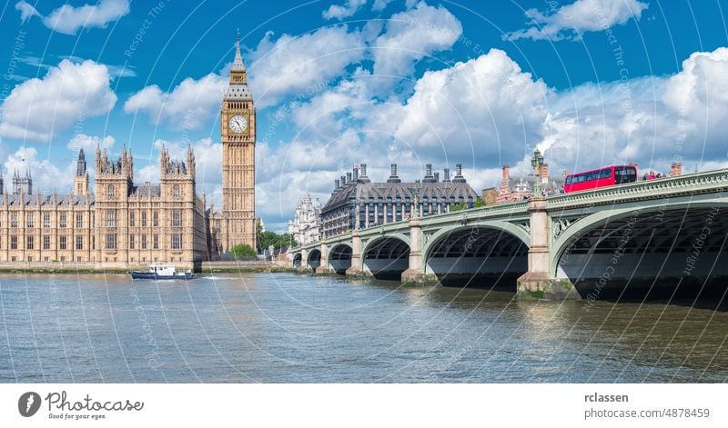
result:
[(207, 207), (196, 192), (191, 147), (185, 159), (170, 159), (162, 148), (157, 184), (135, 183), (126, 147), (116, 159), (96, 147), (93, 192), (81, 149), (68, 194), (34, 193), (30, 171), (16, 171), (5, 189), (0, 174), (0, 262), (192, 268), (237, 244), (256, 248), (256, 111), (239, 33), (220, 117), (222, 211)]

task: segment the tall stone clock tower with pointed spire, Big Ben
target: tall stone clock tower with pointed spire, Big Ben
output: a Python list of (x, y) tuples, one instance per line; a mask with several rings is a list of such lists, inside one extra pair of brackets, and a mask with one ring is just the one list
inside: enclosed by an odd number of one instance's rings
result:
[(256, 109), (240, 55), (240, 32), (230, 85), (220, 109), (222, 141), (223, 249), (238, 244), (256, 248)]

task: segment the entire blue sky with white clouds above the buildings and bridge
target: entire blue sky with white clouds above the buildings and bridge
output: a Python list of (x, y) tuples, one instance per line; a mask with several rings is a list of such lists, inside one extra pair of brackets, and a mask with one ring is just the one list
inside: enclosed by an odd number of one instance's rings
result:
[[(86, 2), (90, 2), (86, 4)], [(528, 174), (637, 162), (728, 166), (728, 28), (719, 2), (9, 1), (0, 9), (5, 185), (67, 192), (80, 147), (197, 154), (220, 202), (217, 114), (239, 28), (258, 105), (258, 215), (282, 230), (301, 194), (367, 163), (414, 179), (464, 166), (476, 190), (501, 164)], [(88, 158), (88, 156), (87, 156)]]

